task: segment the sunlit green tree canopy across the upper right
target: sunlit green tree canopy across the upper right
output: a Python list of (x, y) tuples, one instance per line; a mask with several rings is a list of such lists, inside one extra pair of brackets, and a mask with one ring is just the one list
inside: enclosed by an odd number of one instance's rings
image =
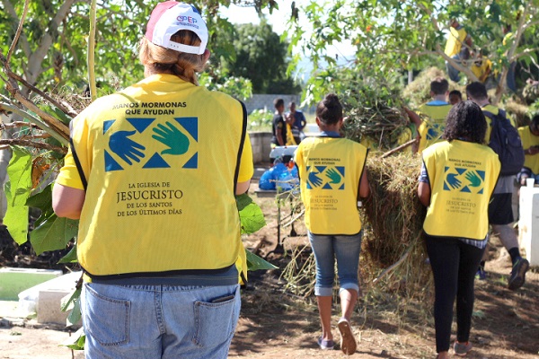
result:
[[(320, 91), (331, 88), (342, 72), (361, 78), (397, 78), (408, 70), (445, 68), (444, 62), (449, 61), (469, 80), (476, 81), (469, 67), (455, 63), (444, 53), (452, 19), (464, 25), (473, 47), (489, 54), (501, 79), (499, 95), (511, 62), (519, 63), (521, 73), (537, 74), (539, 0), (311, 1), (296, 13), (313, 29), (307, 31), (296, 21), (287, 33), (292, 46), (302, 48), (314, 62), (307, 100), (319, 99)], [(513, 36), (504, 44), (502, 28), (508, 25)], [(326, 48), (343, 39), (350, 40), (357, 53), (340, 65), (327, 56)], [(321, 71), (323, 62), (329, 66)]]

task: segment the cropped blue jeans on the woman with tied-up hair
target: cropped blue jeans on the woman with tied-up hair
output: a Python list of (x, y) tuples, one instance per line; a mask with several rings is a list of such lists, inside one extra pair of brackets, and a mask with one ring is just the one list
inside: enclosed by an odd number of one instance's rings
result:
[(361, 251), (361, 235), (319, 235), (308, 232), (316, 261), (316, 285), (314, 295), (331, 296), (335, 277), (335, 259), (340, 290), (359, 292), (358, 265)]

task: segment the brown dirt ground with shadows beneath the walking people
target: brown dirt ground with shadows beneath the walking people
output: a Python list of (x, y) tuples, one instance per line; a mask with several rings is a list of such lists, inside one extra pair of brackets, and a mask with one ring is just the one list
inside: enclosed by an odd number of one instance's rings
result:
[[(271, 253), (277, 246), (277, 210), (275, 199), (252, 197), (267, 217), (268, 225), (250, 235), (245, 245), (279, 266), (279, 270), (254, 272), (250, 285), (243, 290), (243, 308), (230, 349), (230, 358), (342, 358), (339, 350), (321, 351), (316, 345), (320, 335), (314, 297), (303, 298), (283, 290), (280, 270), (287, 263), (286, 254)], [(285, 217), (286, 210), (283, 210)], [(281, 219), (283, 219), (281, 217)], [(283, 223), (286, 223), (284, 218)], [(281, 229), (287, 237), (290, 227)], [(305, 243), (305, 229), (296, 225), (297, 236), (287, 238), (285, 248)], [(498, 239), (493, 238), (486, 270), (488, 277), (476, 281), (476, 301), (473, 313), (469, 358), (539, 358), (539, 270), (528, 271), (526, 285), (512, 292), (507, 289), (510, 260)], [(419, 264), (421, 265), (421, 264)], [(391, 303), (373, 303), (360, 299), (352, 328), (358, 341), (357, 358), (434, 358), (434, 322), (429, 314), (431, 304), (416, 303), (416, 311), (407, 311)], [(420, 313), (419, 315), (417, 313)], [(332, 322), (339, 319), (335, 305)], [(455, 330), (454, 330), (455, 331)], [(338, 342), (336, 328), (333, 335)], [(32, 326), (31, 321), (0, 322), (0, 358), (83, 358), (58, 347), (69, 333), (57, 327)]]

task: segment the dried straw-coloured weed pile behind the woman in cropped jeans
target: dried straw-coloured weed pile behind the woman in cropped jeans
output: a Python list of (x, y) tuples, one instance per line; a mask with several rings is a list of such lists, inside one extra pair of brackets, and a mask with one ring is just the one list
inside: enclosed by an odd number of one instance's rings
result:
[[(419, 173), (419, 156), (373, 156), (367, 161), (371, 195), (360, 210), (364, 235), (359, 277), (364, 297), (430, 305), (426, 300), (433, 295), (430, 267), (420, 237), (426, 209), (417, 196)], [(294, 250), (282, 274), (286, 290), (309, 296), (314, 276), (310, 249)]]

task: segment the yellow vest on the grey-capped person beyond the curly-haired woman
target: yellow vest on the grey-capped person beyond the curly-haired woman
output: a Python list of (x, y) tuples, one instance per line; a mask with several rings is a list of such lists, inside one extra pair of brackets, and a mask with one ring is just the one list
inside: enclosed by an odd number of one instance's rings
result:
[(422, 153), (429, 145), (441, 141), (446, 128), (446, 117), (452, 107), (453, 105), (448, 103), (440, 105), (425, 103), (420, 106), (418, 113), (425, 115), (428, 119), (421, 121), (418, 128), (418, 133), (420, 134), (418, 153)]

